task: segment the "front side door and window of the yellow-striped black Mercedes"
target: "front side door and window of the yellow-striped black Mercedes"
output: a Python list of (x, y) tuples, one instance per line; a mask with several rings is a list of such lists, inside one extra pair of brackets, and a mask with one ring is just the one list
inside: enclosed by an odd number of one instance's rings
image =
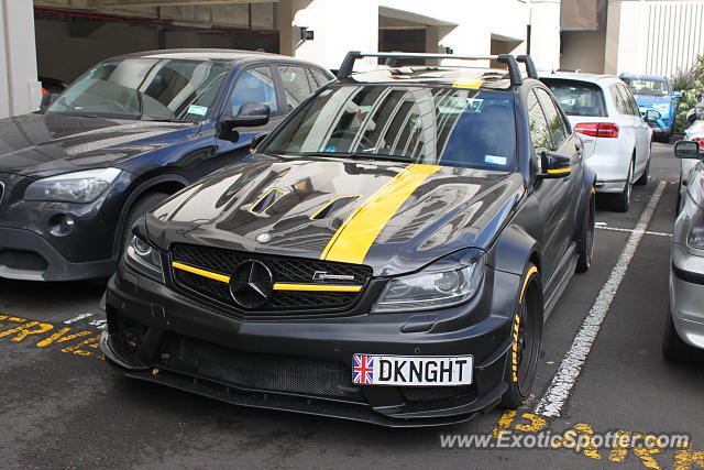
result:
[[(556, 152), (571, 155), (576, 152), (574, 147), (569, 149), (570, 145), (574, 145), (573, 140), (568, 138), (566, 130), (563, 128), (564, 123), (561, 122), (561, 113), (557, 110), (548, 91), (539, 87), (529, 90), (526, 96), (526, 108), (535, 166), (539, 173), (543, 171), (543, 153)], [(560, 129), (561, 127), (562, 129)], [(568, 236), (568, 231), (573, 225), (570, 222), (571, 217), (568, 214), (571, 208), (565, 205), (565, 201), (570, 200), (570, 179), (576, 178), (573, 175), (566, 178), (538, 179), (534, 187), (544, 221), (543, 265), (548, 276), (554, 274), (558, 263), (572, 239)], [(546, 278), (546, 283), (548, 284), (548, 278)], [(548, 287), (547, 284), (546, 287)]]

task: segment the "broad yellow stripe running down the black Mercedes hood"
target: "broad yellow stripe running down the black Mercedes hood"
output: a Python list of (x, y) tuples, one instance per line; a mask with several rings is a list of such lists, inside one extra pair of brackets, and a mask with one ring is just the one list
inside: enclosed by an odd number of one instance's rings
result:
[(346, 218), (320, 255), (321, 260), (362, 264), (380, 232), (398, 208), (438, 165), (410, 164)]

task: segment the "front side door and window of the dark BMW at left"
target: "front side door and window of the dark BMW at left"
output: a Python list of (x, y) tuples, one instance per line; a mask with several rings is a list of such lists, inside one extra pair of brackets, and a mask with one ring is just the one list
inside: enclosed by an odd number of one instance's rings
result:
[[(234, 142), (218, 135), (217, 154), (218, 161), (221, 163), (220, 166), (237, 162), (246, 155), (252, 139), (258, 134), (271, 132), (288, 114), (286, 101), (280, 90), (278, 70), (270, 64), (254, 65), (241, 70), (231, 91), (226, 96), (221, 119), (237, 116), (245, 102), (263, 102), (270, 107), (270, 121), (264, 125), (237, 129), (239, 138)], [(222, 161), (222, 159), (227, 159), (227, 161)]]

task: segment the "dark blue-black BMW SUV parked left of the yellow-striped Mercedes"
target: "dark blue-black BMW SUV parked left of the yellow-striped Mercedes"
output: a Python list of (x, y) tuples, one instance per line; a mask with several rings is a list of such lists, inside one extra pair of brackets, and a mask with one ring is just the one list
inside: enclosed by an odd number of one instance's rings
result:
[[(108, 277), (134, 220), (241, 160), (331, 78), (273, 54), (146, 52), (96, 65), (43, 113), (1, 120), (0, 277)], [(250, 127), (257, 103), (271, 117)]]

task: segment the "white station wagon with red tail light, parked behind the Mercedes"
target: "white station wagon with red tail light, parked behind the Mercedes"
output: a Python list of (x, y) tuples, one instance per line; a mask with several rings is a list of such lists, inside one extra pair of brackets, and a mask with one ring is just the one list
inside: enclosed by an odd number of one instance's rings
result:
[[(596, 172), (596, 190), (626, 212), (632, 185), (647, 185), (652, 130), (641, 118), (626, 85), (617, 77), (580, 73), (543, 75), (584, 142), (586, 163)], [(654, 111), (649, 119), (657, 119)]]

